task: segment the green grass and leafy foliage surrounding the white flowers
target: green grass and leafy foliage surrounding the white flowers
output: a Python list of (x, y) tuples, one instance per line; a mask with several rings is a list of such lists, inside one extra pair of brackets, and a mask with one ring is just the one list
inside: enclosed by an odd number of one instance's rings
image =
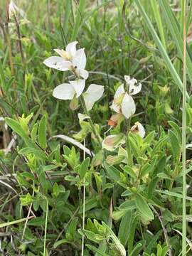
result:
[[(9, 20), (7, 2), (0, 1), (0, 111), (9, 126), (6, 129), (2, 121), (1, 253), (81, 255), (85, 235), (84, 255), (181, 255), (181, 1), (21, 0), (16, 4), (25, 16), (16, 13)], [(191, 9), (188, 1), (188, 144)], [(88, 122), (79, 124), (80, 107), (70, 110), (68, 101), (52, 96), (68, 74), (48, 69), (43, 60), (53, 55), (54, 48), (65, 48), (74, 40), (85, 48), (87, 85), (105, 86), (102, 100), (90, 112), (102, 138), (124, 75), (142, 82), (132, 124), (139, 120), (146, 137), (129, 136), (132, 166), (126, 164), (123, 150), (118, 157), (118, 151), (102, 154)], [(107, 134), (119, 132), (126, 132), (124, 122)], [(83, 151), (54, 137), (58, 134), (81, 142), (86, 137), (85, 146), (96, 156), (87, 155), (83, 161)], [(14, 146), (6, 154), (13, 137)], [(191, 255), (191, 167), (189, 146), (187, 255)]]

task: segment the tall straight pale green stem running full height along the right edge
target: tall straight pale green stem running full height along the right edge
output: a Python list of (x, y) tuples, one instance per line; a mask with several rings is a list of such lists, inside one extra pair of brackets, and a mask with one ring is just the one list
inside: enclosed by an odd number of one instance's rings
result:
[(186, 0), (182, 1), (183, 11), (183, 112), (182, 112), (182, 169), (183, 169), (183, 215), (182, 215), (182, 256), (186, 255)]

